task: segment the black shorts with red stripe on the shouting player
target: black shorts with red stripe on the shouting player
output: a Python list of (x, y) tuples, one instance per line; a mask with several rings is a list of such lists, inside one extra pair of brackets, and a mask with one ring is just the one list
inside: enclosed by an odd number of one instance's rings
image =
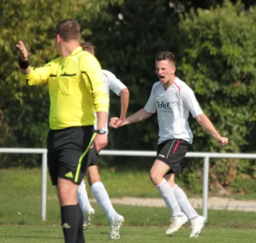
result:
[(157, 159), (170, 166), (166, 174), (181, 173), (185, 167), (183, 158), (188, 151), (188, 142), (182, 139), (166, 140), (158, 145)]

